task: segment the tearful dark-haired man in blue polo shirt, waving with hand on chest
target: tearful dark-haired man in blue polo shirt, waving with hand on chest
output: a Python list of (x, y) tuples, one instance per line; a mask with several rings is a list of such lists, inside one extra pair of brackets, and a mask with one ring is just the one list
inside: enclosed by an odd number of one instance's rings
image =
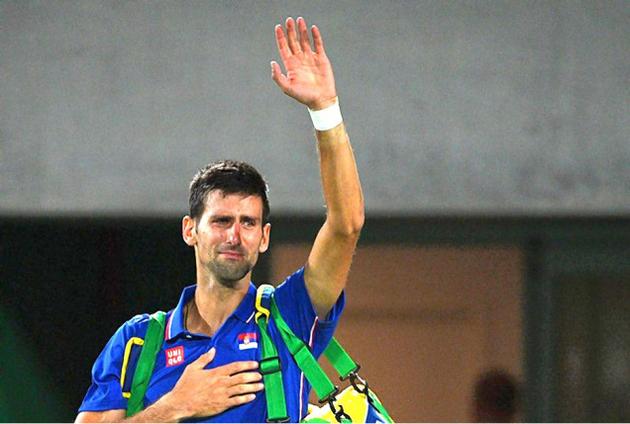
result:
[[(287, 19), (286, 32), (276, 26), (286, 74), (271, 62), (271, 77), (284, 93), (309, 108), (327, 214), (306, 265), (276, 289), (275, 298), (296, 335), (319, 355), (343, 308), (342, 291), (364, 215), (332, 67), (317, 27), (311, 34), (313, 48), (304, 19)], [(77, 422), (266, 420), (262, 376), (257, 371), (261, 356), (253, 320), (255, 287), (250, 281), (258, 255), (269, 246), (266, 184), (247, 164), (215, 163), (193, 179), (190, 208), (182, 235), (195, 251), (197, 284), (184, 289), (167, 315), (145, 409), (125, 419), (130, 352), (134, 340), (144, 337), (146, 314), (125, 323), (100, 354)], [(310, 387), (273, 325), (270, 330), (282, 363), (289, 418), (296, 422), (306, 413)]]

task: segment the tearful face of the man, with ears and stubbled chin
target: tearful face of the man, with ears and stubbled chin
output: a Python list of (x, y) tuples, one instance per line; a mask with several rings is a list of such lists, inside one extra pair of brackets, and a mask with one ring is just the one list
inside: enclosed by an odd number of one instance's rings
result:
[(235, 287), (269, 246), (271, 226), (263, 225), (262, 213), (258, 196), (210, 192), (201, 218), (195, 222), (186, 216), (182, 221), (184, 241), (195, 247), (197, 267), (222, 285)]

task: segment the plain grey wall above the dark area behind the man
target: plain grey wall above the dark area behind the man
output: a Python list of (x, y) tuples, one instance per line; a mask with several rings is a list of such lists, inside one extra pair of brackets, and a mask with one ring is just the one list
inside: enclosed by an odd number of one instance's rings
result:
[(180, 215), (250, 161), (322, 213), (273, 26), (317, 23), (368, 212), (630, 213), (625, 1), (0, 2), (0, 215)]

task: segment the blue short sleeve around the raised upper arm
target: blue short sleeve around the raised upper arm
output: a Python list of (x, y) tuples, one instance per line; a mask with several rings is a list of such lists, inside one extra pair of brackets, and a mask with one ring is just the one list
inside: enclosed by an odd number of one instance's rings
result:
[(306, 290), (302, 267), (276, 288), (274, 297), (291, 330), (313, 348), (315, 356), (319, 356), (328, 345), (339, 322), (345, 305), (344, 292), (339, 295), (326, 319), (318, 319)]

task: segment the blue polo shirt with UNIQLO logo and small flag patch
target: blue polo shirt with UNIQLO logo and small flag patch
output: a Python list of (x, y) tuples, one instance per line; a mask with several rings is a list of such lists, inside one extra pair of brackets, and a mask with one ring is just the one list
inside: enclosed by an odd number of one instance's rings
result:
[[(216, 355), (206, 367), (208, 369), (234, 361), (260, 361), (262, 357), (258, 325), (254, 321), (256, 287), (250, 283), (239, 306), (212, 337), (190, 333), (184, 326), (184, 306), (194, 297), (195, 288), (186, 287), (175, 309), (167, 314), (165, 340), (158, 352), (153, 376), (144, 397), (145, 408), (171, 391), (186, 365), (212, 347), (216, 348)], [(306, 291), (304, 269), (301, 268), (276, 288), (274, 296), (278, 309), (296, 336), (311, 346), (316, 357), (321, 355), (337, 326), (344, 306), (344, 295), (339, 297), (326, 320), (319, 320)], [(134, 340), (138, 339), (133, 338), (144, 338), (148, 322), (148, 314), (137, 315), (112, 336), (92, 367), (92, 385), (79, 411), (127, 409), (127, 398), (123, 392), (131, 386), (134, 362), (140, 351), (139, 345), (134, 345)], [(287, 413), (292, 422), (298, 422), (306, 415), (311, 386), (291, 357), (273, 320), (269, 332), (282, 364)], [(256, 393), (256, 399), (252, 402), (191, 421), (264, 422), (266, 419), (267, 403), (264, 391), (261, 391)]]

